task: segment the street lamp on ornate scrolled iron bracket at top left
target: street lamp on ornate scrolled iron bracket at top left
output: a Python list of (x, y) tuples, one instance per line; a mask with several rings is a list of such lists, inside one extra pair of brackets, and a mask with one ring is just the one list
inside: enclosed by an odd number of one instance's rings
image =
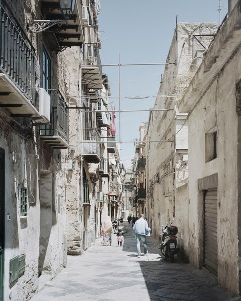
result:
[[(76, 0), (58, 0), (59, 9), (61, 14), (65, 18), (66, 24), (68, 24), (68, 20), (74, 14), (74, 7)], [(40, 33), (45, 31), (46, 29), (58, 24), (59, 27), (62, 26), (63, 20), (32, 20), (29, 22), (28, 31), (31, 35), (34, 33)]]

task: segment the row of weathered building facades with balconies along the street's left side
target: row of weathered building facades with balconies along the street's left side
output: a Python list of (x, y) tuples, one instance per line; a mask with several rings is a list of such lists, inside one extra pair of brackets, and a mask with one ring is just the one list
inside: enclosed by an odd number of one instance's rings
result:
[(30, 299), (100, 235), (112, 198), (122, 208), (100, 2), (71, 3), (0, 2), (1, 301)]

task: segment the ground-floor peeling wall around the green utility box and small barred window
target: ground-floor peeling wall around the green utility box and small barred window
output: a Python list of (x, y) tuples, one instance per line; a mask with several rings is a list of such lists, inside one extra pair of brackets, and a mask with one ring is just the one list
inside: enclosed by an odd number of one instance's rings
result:
[[(38, 253), (39, 253), (39, 197), (36, 181), (36, 159), (31, 129), (28, 138), (1, 111), (0, 147), (5, 150), (5, 265), (4, 299), (27, 299), (38, 288)], [(15, 129), (13, 129), (15, 128)], [(28, 215), (20, 217), (19, 187), (28, 188)], [(7, 221), (7, 214), (10, 220)], [(9, 261), (15, 256), (26, 254), (25, 273), (9, 285)]]

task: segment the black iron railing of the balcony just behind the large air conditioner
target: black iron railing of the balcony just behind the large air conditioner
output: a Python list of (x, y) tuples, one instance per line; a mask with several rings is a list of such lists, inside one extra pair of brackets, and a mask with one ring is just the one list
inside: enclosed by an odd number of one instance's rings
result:
[(50, 124), (41, 125), (40, 136), (55, 136), (63, 139), (68, 144), (68, 107), (67, 103), (58, 89), (48, 89), (51, 96)]

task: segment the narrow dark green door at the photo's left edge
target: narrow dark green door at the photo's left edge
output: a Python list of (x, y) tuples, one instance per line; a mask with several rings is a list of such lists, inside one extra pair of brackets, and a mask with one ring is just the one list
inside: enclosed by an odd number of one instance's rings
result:
[(0, 148), (0, 301), (4, 300), (4, 150)]

